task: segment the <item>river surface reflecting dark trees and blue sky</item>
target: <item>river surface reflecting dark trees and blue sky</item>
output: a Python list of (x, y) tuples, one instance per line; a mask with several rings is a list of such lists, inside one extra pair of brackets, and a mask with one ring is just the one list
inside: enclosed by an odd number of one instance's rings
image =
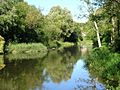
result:
[(81, 55), (74, 46), (49, 51), (42, 59), (4, 60), (0, 90), (104, 90)]

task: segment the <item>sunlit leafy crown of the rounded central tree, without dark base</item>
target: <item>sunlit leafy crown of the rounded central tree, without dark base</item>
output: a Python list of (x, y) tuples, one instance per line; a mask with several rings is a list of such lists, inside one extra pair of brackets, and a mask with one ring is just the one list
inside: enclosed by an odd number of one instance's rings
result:
[(73, 24), (72, 16), (69, 10), (62, 9), (60, 6), (51, 8), (46, 16), (46, 35), (50, 40), (62, 39), (61, 34), (70, 36), (71, 25)]

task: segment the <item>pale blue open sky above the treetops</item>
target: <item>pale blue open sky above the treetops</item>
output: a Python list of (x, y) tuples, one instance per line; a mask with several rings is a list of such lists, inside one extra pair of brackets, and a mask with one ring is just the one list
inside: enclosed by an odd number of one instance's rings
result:
[(37, 8), (42, 9), (42, 13), (47, 15), (53, 6), (59, 5), (62, 8), (67, 8), (71, 11), (73, 20), (76, 22), (86, 22), (87, 18), (78, 18), (85, 14), (88, 14), (86, 8), (87, 5), (82, 0), (24, 0), (29, 5), (34, 5)]

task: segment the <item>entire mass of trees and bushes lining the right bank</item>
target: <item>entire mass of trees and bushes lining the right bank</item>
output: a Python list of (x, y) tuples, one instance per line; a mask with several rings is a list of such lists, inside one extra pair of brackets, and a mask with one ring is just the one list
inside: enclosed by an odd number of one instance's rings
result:
[(84, 1), (87, 2), (90, 12), (89, 21), (83, 25), (86, 39), (91, 39), (94, 47), (99, 46), (99, 39), (102, 44), (100, 48), (92, 50), (86, 60), (87, 65), (93, 76), (105, 83), (107, 89), (119, 90), (120, 1)]

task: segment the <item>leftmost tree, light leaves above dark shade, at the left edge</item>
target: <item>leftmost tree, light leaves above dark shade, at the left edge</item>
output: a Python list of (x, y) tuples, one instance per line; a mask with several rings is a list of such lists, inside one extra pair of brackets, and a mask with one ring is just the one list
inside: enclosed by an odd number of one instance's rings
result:
[(6, 42), (13, 39), (17, 15), (15, 5), (23, 0), (0, 0), (0, 35)]

